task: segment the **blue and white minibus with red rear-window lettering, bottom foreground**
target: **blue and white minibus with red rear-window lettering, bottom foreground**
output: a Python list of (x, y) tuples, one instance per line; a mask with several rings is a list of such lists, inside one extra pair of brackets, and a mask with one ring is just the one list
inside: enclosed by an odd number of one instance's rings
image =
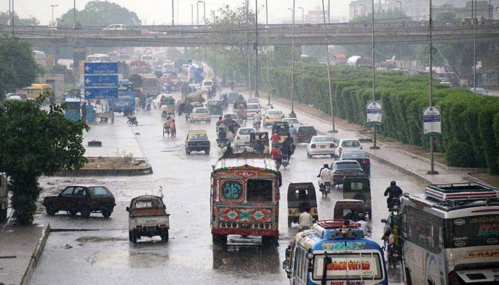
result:
[(292, 285), (388, 284), (383, 250), (345, 219), (321, 220), (299, 232), (282, 266)]

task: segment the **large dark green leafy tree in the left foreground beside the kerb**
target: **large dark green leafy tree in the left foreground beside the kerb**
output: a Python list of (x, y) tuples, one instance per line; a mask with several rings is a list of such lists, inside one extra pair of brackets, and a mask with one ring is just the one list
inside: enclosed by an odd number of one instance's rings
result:
[(10, 178), (11, 204), (19, 224), (33, 222), (41, 192), (38, 177), (78, 169), (87, 161), (82, 142), (88, 125), (67, 119), (60, 105), (42, 110), (43, 99), (0, 105), (0, 172)]

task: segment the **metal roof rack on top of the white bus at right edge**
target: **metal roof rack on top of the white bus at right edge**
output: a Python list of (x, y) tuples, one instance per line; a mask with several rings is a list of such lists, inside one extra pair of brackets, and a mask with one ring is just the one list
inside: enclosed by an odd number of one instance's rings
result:
[(428, 199), (438, 202), (475, 202), (499, 198), (499, 190), (478, 182), (428, 185), (425, 189)]

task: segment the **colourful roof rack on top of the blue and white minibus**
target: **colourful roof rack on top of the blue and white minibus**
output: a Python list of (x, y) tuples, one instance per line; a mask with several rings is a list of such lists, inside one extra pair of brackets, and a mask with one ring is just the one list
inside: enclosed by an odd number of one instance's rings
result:
[(314, 231), (331, 239), (359, 239), (364, 237), (360, 225), (349, 219), (323, 219), (314, 224)]

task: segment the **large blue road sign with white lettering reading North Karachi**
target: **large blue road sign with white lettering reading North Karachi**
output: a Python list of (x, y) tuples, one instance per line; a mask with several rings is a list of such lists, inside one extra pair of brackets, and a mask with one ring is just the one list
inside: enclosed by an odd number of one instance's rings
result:
[(118, 99), (118, 63), (84, 63), (85, 99)]

